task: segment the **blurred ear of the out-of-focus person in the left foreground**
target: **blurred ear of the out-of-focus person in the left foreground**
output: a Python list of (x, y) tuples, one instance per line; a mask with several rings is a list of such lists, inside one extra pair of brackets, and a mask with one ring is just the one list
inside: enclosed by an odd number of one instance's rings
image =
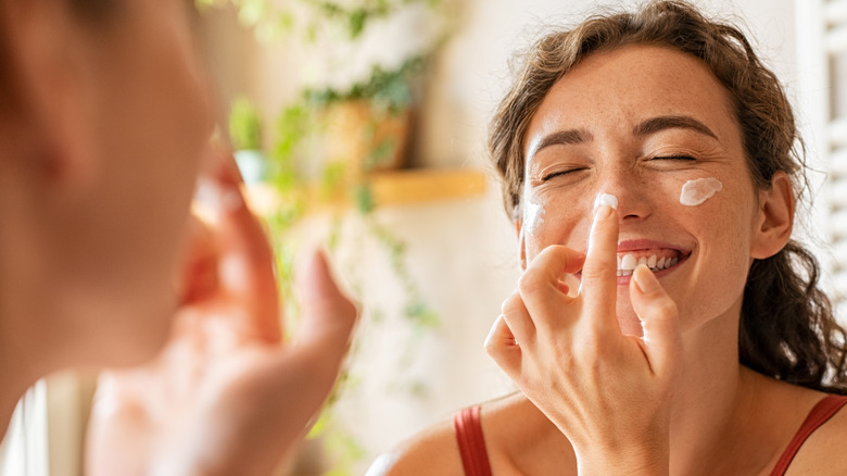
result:
[[(92, 174), (91, 70), (89, 28), (74, 18), (67, 2), (3, 2), (0, 21), (9, 62), (3, 65), (14, 108), (11, 150), (52, 187), (76, 188)], [(10, 115), (12, 117), (10, 117)]]

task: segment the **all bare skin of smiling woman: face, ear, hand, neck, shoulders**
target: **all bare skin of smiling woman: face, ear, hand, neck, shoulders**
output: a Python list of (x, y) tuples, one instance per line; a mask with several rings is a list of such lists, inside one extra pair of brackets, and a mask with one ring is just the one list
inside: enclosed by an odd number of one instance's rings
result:
[[(520, 389), (482, 406), (494, 474), (768, 474), (822, 394), (738, 363), (747, 268), (786, 243), (794, 198), (782, 173), (753, 186), (726, 91), (680, 52), (595, 53), (548, 92), (524, 153), (524, 203), (543, 220), (524, 208), (516, 223), (526, 271), (485, 342)], [(682, 205), (682, 185), (705, 177), (723, 189)], [(617, 211), (592, 210), (599, 192)], [(679, 263), (618, 277), (616, 252)], [(576, 296), (564, 273), (580, 276)], [(437, 425), (372, 474), (460, 475), (451, 440)], [(789, 474), (843, 467), (814, 441)]]

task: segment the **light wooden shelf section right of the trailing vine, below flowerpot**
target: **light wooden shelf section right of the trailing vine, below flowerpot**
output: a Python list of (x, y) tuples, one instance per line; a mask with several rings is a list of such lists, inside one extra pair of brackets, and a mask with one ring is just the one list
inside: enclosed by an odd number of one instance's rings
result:
[(374, 173), (369, 180), (377, 206), (478, 197), (488, 187), (485, 173), (473, 170), (380, 172)]

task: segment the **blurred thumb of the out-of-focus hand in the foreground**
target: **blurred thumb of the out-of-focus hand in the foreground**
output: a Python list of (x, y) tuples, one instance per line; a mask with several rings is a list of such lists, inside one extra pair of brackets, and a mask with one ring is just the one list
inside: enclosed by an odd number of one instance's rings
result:
[(338, 364), (346, 354), (358, 311), (338, 288), (323, 252), (308, 259), (296, 287), (303, 321), (295, 346), (313, 348)]

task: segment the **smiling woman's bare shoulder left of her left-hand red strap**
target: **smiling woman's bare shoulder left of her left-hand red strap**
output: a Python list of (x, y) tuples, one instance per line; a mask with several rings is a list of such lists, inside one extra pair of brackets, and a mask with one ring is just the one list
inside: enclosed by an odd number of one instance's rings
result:
[(462, 476), (453, 421), (444, 419), (377, 458), (366, 476)]

